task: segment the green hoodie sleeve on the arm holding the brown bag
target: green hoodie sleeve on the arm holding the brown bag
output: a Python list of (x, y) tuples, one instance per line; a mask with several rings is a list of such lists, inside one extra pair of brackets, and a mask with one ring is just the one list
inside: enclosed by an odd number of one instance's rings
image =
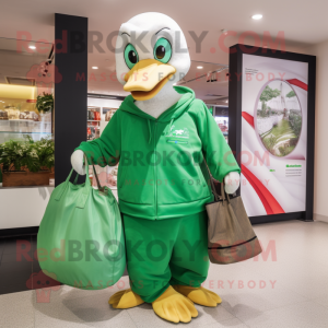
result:
[(203, 102), (199, 102), (198, 133), (202, 142), (202, 152), (210, 168), (211, 175), (220, 183), (230, 172), (238, 172), (241, 168), (225, 141), (214, 117)]

